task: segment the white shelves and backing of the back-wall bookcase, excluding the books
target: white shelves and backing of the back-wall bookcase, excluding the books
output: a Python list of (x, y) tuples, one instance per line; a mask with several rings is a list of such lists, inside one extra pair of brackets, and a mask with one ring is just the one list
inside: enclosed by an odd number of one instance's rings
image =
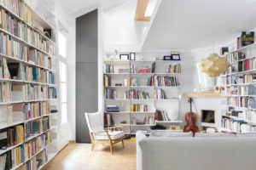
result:
[[(106, 53), (109, 55), (109, 53)], [(119, 53), (119, 54), (129, 54), (129, 53)], [(171, 130), (170, 125), (180, 125), (183, 121), (154, 121), (154, 123), (143, 124), (143, 119), (145, 116), (151, 116), (154, 118), (155, 111), (169, 111), (170, 109), (175, 109), (179, 111), (179, 99), (181, 96), (180, 92), (180, 76), (181, 73), (166, 73), (169, 65), (177, 65), (181, 63), (180, 60), (163, 60), (166, 53), (147, 53), (138, 52), (136, 53), (136, 60), (120, 60), (119, 54), (116, 60), (104, 59), (103, 65), (113, 65), (113, 72), (105, 73), (111, 77), (111, 86), (104, 86), (105, 89), (113, 89), (116, 91), (115, 99), (106, 99), (105, 93), (103, 92), (104, 98), (104, 111), (105, 114), (110, 114), (113, 117), (114, 125), (121, 125), (125, 134), (135, 134), (137, 130), (144, 130), (149, 133), (152, 131), (150, 127), (156, 124), (162, 124), (166, 127), (166, 130)], [(113, 57), (113, 54), (110, 54)], [(170, 55), (170, 54), (169, 54)], [(119, 69), (129, 69), (130, 65), (136, 65), (137, 72), (141, 66), (148, 66), (148, 73), (119, 73)], [(152, 72), (152, 65), (154, 65), (154, 72)], [(182, 70), (182, 69), (181, 69)], [(148, 86), (148, 78), (152, 76), (161, 77), (176, 77), (179, 85), (177, 86)], [(138, 86), (125, 86), (125, 78), (127, 77), (137, 77)], [(116, 84), (121, 84), (121, 86), (116, 86)], [(137, 91), (145, 92), (149, 94), (149, 99), (125, 99), (125, 92), (127, 90), (135, 89)], [(156, 89), (162, 89), (166, 93), (167, 99), (155, 99), (154, 91)], [(131, 111), (131, 105), (148, 105), (148, 111)], [(119, 107), (119, 112), (107, 111), (108, 105), (117, 105)], [(121, 122), (126, 122), (125, 124)], [(180, 130), (176, 130), (180, 131)]]

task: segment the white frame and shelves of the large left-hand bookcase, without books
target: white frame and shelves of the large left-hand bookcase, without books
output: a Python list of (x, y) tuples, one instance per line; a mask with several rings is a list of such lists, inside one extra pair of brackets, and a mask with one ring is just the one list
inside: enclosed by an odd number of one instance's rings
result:
[[(21, 2), (21, 0), (19, 0)], [(47, 88), (57, 88), (57, 95), (56, 98), (49, 97), (49, 90), (47, 90), (47, 98), (43, 99), (41, 97), (38, 97), (38, 99), (30, 99), (30, 100), (19, 100), (19, 101), (13, 101), (11, 95), (9, 96), (10, 100), (8, 102), (1, 102), (0, 106), (3, 105), (15, 105), (15, 104), (36, 104), (40, 102), (48, 102), (49, 103), (49, 112), (47, 114), (42, 113), (41, 116), (34, 116), (29, 119), (26, 119), (25, 116), (15, 117), (16, 115), (13, 115), (13, 122), (1, 122), (0, 124), (0, 133), (3, 132), (5, 129), (8, 129), (10, 127), (16, 127), (23, 125), (24, 127), (24, 139), (19, 144), (15, 144), (13, 146), (7, 147), (5, 150), (0, 150), (0, 155), (4, 155), (8, 153), (9, 151), (15, 150), (16, 148), (22, 146), (25, 148), (25, 144), (28, 144), (32, 142), (33, 140), (37, 139), (38, 137), (41, 137), (45, 133), (50, 133), (49, 135), (49, 141), (44, 144), (44, 146), (40, 146), (39, 150), (37, 152), (33, 153), (31, 156), (24, 157), (24, 159), (18, 164), (13, 165), (12, 170), (15, 169), (23, 169), (23, 166), (26, 167), (29, 162), (33, 161), (36, 162), (37, 159), (42, 159), (42, 162), (39, 167), (31, 167), (31, 169), (41, 169), (48, 163), (57, 153), (55, 144), (57, 143), (58, 138), (58, 120), (60, 112), (54, 112), (51, 113), (50, 110), (56, 109), (57, 111), (60, 111), (59, 108), (59, 59), (56, 57), (56, 49), (57, 49), (57, 43), (55, 41), (49, 39), (49, 37), (46, 37), (42, 31), (38, 31), (38, 29), (35, 26), (32, 26), (32, 24), (29, 24), (24, 18), (21, 18), (19, 14), (16, 14), (14, 12), (14, 8), (9, 8), (6, 6), (7, 1), (3, 0), (0, 2), (0, 8), (5, 11), (5, 13), (9, 14), (13, 19), (15, 19), (17, 22), (20, 22), (20, 24), (23, 24), (27, 28), (29, 28), (31, 31), (37, 32), (39, 37), (42, 38), (42, 40), (46, 41), (49, 44), (53, 45), (53, 50), (55, 51), (53, 54), (49, 54), (47, 51), (45, 51), (43, 48), (38, 47), (37, 44), (34, 44), (32, 42), (27, 42), (22, 37), (17, 37), (13, 32), (4, 30), (3, 28), (0, 28), (0, 32), (3, 32), (4, 35), (8, 35), (12, 40), (15, 42), (19, 42), (22, 46), (26, 46), (30, 49), (35, 49), (38, 52), (44, 54), (44, 56), (47, 56), (51, 59), (51, 68), (45, 67), (42, 65), (37, 65), (32, 62), (29, 62), (25, 59), (18, 59), (14, 56), (8, 55), (8, 54), (0, 54), (0, 58), (7, 59), (8, 62), (15, 62), (20, 63), (20, 66), (32, 66), (35, 68), (39, 68), (41, 71), (49, 71), (51, 73), (55, 73), (55, 83), (49, 83), (49, 82), (29, 82), (21, 79), (9, 79), (9, 78), (2, 78), (0, 79), (1, 83), (9, 83), (12, 87), (15, 84), (30, 84), (34, 86), (40, 86), (40, 87), (47, 87)], [(14, 1), (9, 1), (14, 2)], [(46, 22), (42, 17), (40, 17), (39, 14), (37, 14), (35, 11), (33, 11), (32, 8), (27, 6), (27, 9), (30, 11), (30, 14), (32, 15), (33, 21), (36, 21), (39, 26), (42, 26), (43, 28), (52, 29), (55, 30), (53, 26), (50, 26), (48, 22)], [(21, 9), (20, 9), (21, 10)], [(2, 18), (3, 19), (3, 18)], [(3, 20), (2, 20), (3, 21)], [(2, 23), (3, 24), (3, 23)], [(46, 88), (46, 89), (47, 89)], [(41, 104), (42, 105), (42, 104)], [(23, 113), (24, 114), (24, 113)], [(49, 117), (49, 128), (45, 131), (41, 129), (41, 133), (34, 133), (31, 136), (27, 137), (25, 136), (25, 127), (27, 123), (35, 122), (43, 120), (44, 117)], [(21, 150), (22, 151), (22, 150)], [(24, 151), (24, 150), (23, 150)], [(25, 153), (24, 153), (25, 154)], [(37, 164), (37, 163), (36, 163)], [(36, 165), (34, 164), (34, 166)]]

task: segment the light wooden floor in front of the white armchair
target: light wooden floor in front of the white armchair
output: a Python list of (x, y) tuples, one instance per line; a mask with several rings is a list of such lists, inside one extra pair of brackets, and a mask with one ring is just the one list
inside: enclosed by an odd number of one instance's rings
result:
[(136, 170), (136, 142), (125, 140), (113, 145), (113, 156), (108, 146), (96, 144), (68, 144), (43, 170)]

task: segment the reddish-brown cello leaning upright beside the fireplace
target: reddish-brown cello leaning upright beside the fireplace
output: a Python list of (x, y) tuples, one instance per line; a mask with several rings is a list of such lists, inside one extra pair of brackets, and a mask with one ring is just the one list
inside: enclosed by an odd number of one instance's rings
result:
[(190, 111), (186, 113), (185, 120), (187, 124), (184, 126), (183, 132), (184, 133), (193, 133), (193, 137), (195, 137), (195, 133), (199, 132), (199, 128), (196, 126), (195, 122), (197, 121), (197, 115), (196, 113), (192, 112), (192, 102), (193, 99), (189, 98), (190, 103)]

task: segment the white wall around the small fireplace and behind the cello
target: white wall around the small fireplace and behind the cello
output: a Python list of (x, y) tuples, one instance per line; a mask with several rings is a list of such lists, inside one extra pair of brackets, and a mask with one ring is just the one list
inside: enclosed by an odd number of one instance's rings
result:
[[(212, 52), (212, 48), (203, 48), (182, 54), (181, 83), (183, 93), (200, 92), (197, 63), (200, 63), (201, 59), (206, 59)], [(223, 100), (225, 101), (223, 98), (194, 98), (192, 108), (198, 115), (197, 125), (199, 127), (201, 127), (201, 110), (215, 111), (216, 125), (218, 128), (221, 126), (221, 115), (222, 111), (225, 110), (224, 105), (222, 105)], [(184, 115), (190, 110), (188, 98), (181, 99), (180, 105), (180, 118), (184, 121)]]

